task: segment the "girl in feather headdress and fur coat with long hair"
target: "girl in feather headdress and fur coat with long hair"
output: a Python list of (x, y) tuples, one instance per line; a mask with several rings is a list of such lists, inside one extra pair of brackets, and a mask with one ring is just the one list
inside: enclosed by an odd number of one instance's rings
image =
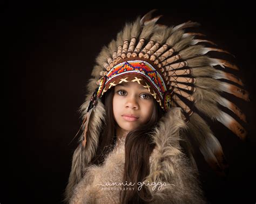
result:
[(217, 108), (219, 102), (235, 111), (218, 92), (248, 97), (217, 80), (240, 82), (214, 68), (231, 64), (204, 55), (224, 51), (196, 45), (205, 40), (183, 30), (195, 23), (167, 27), (151, 14), (126, 24), (97, 58), (66, 187), (70, 203), (205, 203), (188, 135), (215, 171), (223, 174), (226, 163), (218, 140), (190, 107), (245, 136)]

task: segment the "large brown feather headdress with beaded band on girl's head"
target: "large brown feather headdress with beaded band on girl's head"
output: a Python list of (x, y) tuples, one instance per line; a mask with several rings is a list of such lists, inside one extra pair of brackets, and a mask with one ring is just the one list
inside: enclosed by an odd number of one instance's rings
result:
[[(188, 126), (186, 139), (196, 142), (207, 163), (224, 174), (227, 164), (223, 149), (204, 116), (219, 121), (239, 138), (245, 138), (246, 130), (241, 125), (246, 122), (245, 115), (221, 94), (248, 101), (241, 80), (227, 72), (238, 67), (224, 59), (210, 57), (208, 54), (213, 52), (230, 53), (212, 46), (215, 44), (209, 40), (200, 39), (203, 36), (200, 33), (186, 32), (185, 29), (198, 23), (188, 21), (168, 27), (157, 24), (160, 16), (151, 16), (149, 12), (142, 19), (127, 23), (116, 40), (103, 47), (97, 57), (90, 81), (93, 95), (82, 126), (83, 146), (91, 112), (98, 108), (97, 100), (111, 87), (133, 81), (147, 88), (164, 111), (171, 107), (183, 110)], [(232, 111), (240, 122), (220, 105)]]

